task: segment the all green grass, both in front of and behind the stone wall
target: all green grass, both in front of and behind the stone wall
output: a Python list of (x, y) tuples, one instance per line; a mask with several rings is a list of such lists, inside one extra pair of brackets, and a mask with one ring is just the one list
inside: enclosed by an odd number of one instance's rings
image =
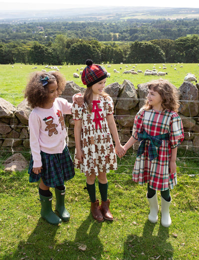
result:
[[(198, 64), (176, 64), (177, 70), (166, 64), (166, 79), (177, 88), (188, 72), (199, 77)], [(17, 106), (23, 100), (30, 65), (0, 65), (0, 97)], [(115, 64), (107, 68), (111, 73), (107, 85), (130, 80), (135, 88), (157, 76), (122, 74), (135, 64)], [(152, 69), (154, 64), (138, 64), (136, 69)], [(155, 65), (158, 69), (162, 64)], [(20, 68), (21, 67), (21, 68)], [(81, 78), (74, 79), (78, 66), (62, 66), (60, 71), (67, 80), (83, 87)], [(122, 70), (119, 68), (122, 67)], [(114, 73), (113, 69), (120, 73)], [(44, 66), (37, 66), (37, 70)], [(159, 69), (158, 69), (159, 70)], [(160, 70), (159, 70), (160, 71)], [(74, 149), (70, 149), (74, 154)], [(9, 155), (0, 151), (0, 260), (199, 260), (199, 156), (179, 150), (177, 160), (178, 185), (171, 191), (170, 214), (172, 225), (148, 221), (149, 205), (146, 185), (132, 182), (131, 173), (135, 154), (129, 151), (121, 160), (118, 170), (108, 173), (108, 197), (114, 217), (112, 223), (96, 222), (90, 213), (90, 201), (84, 190), (86, 179), (78, 170), (66, 182), (66, 207), (71, 214), (69, 222), (52, 226), (40, 217), (38, 183), (29, 183), (27, 170), (21, 173), (3, 171), (2, 161)], [(26, 153), (29, 160), (30, 154)], [(73, 156), (73, 155), (72, 155)], [(98, 182), (97, 197), (100, 199)], [(53, 209), (55, 193), (53, 193)], [(158, 192), (160, 205), (160, 193)], [(161, 205), (160, 205), (161, 206)], [(160, 207), (161, 209), (161, 207)], [(85, 250), (83, 250), (85, 249)]]

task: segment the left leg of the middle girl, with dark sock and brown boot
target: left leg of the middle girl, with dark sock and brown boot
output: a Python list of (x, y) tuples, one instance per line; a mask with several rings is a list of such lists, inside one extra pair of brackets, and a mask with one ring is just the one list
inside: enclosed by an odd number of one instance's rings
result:
[(87, 190), (91, 199), (91, 213), (98, 222), (103, 221), (99, 200), (96, 199), (96, 175), (87, 176)]

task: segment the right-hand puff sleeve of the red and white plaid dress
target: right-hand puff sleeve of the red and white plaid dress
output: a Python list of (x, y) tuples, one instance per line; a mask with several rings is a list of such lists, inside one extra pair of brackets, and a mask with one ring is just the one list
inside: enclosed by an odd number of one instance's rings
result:
[(184, 139), (183, 123), (177, 113), (174, 113), (170, 121), (170, 143), (171, 148), (180, 145)]

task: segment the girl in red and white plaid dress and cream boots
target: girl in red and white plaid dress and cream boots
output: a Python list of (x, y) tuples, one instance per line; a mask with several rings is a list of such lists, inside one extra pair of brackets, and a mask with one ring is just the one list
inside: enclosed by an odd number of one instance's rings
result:
[(177, 147), (184, 139), (181, 118), (178, 116), (178, 90), (167, 80), (154, 80), (148, 85), (145, 106), (137, 113), (133, 132), (124, 145), (127, 151), (137, 140), (140, 145), (133, 169), (133, 180), (147, 183), (150, 204), (148, 219), (158, 221), (157, 190), (161, 192), (161, 224), (171, 225), (170, 189), (177, 184)]

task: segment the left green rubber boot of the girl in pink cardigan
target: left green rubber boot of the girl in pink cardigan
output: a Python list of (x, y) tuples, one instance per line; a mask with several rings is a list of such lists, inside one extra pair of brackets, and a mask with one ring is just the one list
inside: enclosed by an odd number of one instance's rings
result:
[(53, 212), (52, 210), (52, 196), (45, 197), (39, 194), (40, 202), (41, 202), (41, 216), (48, 223), (53, 225), (58, 225), (62, 222), (62, 220)]

